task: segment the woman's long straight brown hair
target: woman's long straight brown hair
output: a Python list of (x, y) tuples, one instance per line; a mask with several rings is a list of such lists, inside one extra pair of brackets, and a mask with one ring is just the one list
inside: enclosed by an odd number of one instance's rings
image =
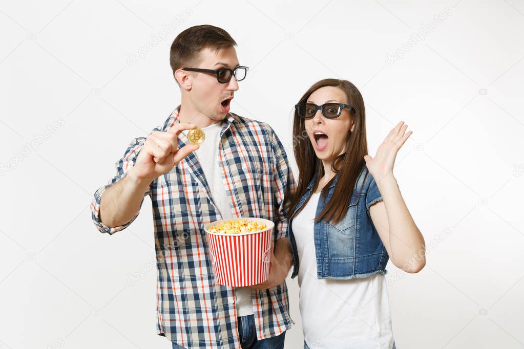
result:
[[(339, 87), (347, 96), (347, 104), (355, 108), (355, 111), (350, 111), (355, 119), (355, 127), (351, 133), (350, 130), (347, 130), (346, 152), (337, 156), (333, 161), (331, 167), (333, 172), (335, 172), (335, 176), (333, 176), (331, 181), (322, 189), (322, 199), (324, 199), (328, 193), (330, 184), (338, 177), (336, 188), (333, 196), (326, 203), (322, 212), (320, 212), (320, 215), (315, 217), (315, 222), (325, 219), (336, 223), (340, 222), (346, 215), (353, 194), (353, 187), (355, 186), (358, 175), (366, 164), (364, 161), (364, 155), (367, 155), (366, 111), (364, 108), (364, 99), (355, 85), (346, 80), (331, 78), (313, 84), (313, 86), (304, 93), (302, 98), (300, 98), (298, 103), (306, 103), (313, 92), (326, 86)], [(293, 145), (294, 156), (299, 170), (299, 181), (294, 193), (290, 193), (289, 191), (286, 193), (288, 219), (291, 219), (293, 216), (293, 211), (305, 194), (314, 174), (318, 174), (318, 177), (313, 191), (316, 191), (319, 185), (319, 179), (324, 176), (322, 161), (316, 157), (304, 126), (304, 119), (298, 116), (297, 110), (294, 111), (293, 118)], [(297, 211), (297, 214), (308, 201), (309, 198), (304, 202), (301, 209)]]

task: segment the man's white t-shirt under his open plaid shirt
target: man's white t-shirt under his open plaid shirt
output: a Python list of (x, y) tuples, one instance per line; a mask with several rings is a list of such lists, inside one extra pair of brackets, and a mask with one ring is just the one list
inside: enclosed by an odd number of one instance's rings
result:
[[(200, 144), (200, 148), (195, 151), (202, 171), (211, 192), (211, 197), (216, 209), (220, 212), (222, 219), (231, 219), (230, 198), (228, 198), (225, 186), (222, 182), (222, 166), (219, 165), (219, 141), (220, 131), (223, 121), (213, 123), (208, 127), (202, 128), (205, 133), (205, 140)], [(246, 316), (254, 313), (253, 300), (251, 298), (250, 287), (236, 287), (236, 312), (237, 316)]]

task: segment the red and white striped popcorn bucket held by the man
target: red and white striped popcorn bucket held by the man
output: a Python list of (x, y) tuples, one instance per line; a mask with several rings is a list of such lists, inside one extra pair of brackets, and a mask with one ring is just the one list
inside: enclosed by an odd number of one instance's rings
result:
[(207, 224), (213, 259), (213, 271), (220, 285), (253, 286), (265, 282), (269, 277), (269, 262), (273, 248), (275, 223), (263, 218), (246, 218), (266, 224), (266, 229), (253, 233), (219, 234), (208, 228), (227, 219)]

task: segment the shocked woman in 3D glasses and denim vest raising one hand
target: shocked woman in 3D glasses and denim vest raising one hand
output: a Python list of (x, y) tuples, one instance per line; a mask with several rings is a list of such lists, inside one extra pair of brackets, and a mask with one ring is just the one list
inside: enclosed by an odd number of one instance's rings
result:
[(399, 122), (371, 157), (364, 100), (351, 82), (319, 81), (296, 105), (300, 176), (287, 205), (304, 348), (396, 347), (386, 264), (408, 273), (425, 265), (424, 239), (393, 175), (406, 128)]

